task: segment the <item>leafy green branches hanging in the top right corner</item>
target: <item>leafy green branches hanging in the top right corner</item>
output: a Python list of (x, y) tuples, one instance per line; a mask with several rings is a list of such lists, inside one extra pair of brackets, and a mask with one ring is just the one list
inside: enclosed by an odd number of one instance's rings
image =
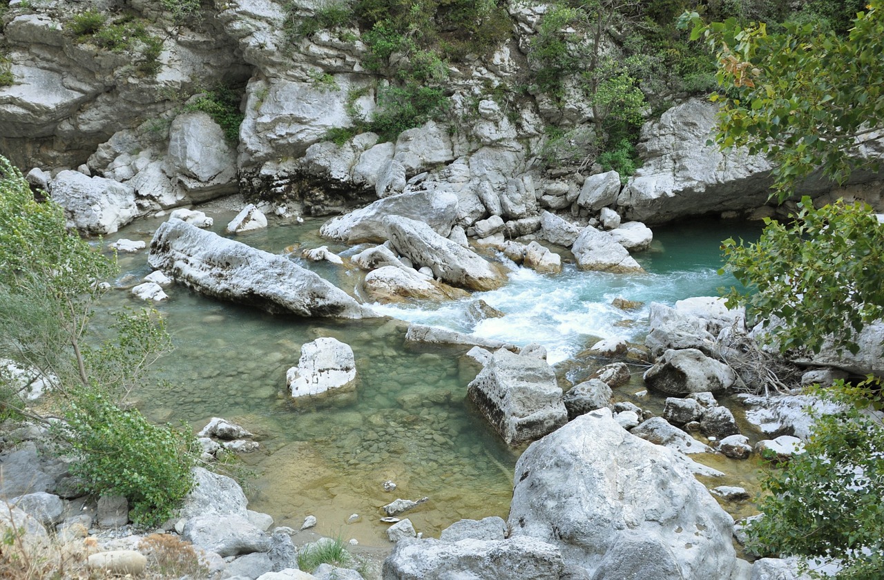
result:
[(705, 38), (720, 60), (716, 141), (770, 157), (781, 201), (820, 167), (839, 183), (860, 166), (880, 167), (863, 150), (884, 127), (880, 0), (846, 35), (816, 21), (786, 22), (781, 34), (733, 18), (706, 25), (697, 12), (682, 15), (689, 22), (691, 39)]

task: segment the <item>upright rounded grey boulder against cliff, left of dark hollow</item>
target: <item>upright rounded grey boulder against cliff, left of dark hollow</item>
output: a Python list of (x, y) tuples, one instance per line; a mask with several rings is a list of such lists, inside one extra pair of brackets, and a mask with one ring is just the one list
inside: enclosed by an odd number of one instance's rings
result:
[(194, 202), (237, 190), (236, 150), (224, 130), (202, 111), (182, 113), (169, 127), (166, 172)]

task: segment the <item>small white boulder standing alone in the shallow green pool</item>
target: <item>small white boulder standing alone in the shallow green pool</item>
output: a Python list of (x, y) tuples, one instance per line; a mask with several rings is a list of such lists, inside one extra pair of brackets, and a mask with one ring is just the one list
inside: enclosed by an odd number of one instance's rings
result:
[(330, 337), (304, 343), (298, 366), (286, 372), (286, 383), (293, 397), (352, 390), (356, 386), (353, 348)]

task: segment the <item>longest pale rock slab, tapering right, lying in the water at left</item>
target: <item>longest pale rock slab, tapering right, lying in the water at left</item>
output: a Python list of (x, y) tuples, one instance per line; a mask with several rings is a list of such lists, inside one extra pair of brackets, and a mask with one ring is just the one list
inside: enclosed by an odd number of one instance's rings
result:
[(374, 316), (343, 291), (283, 256), (226, 240), (179, 219), (157, 228), (148, 262), (201, 294), (272, 313)]

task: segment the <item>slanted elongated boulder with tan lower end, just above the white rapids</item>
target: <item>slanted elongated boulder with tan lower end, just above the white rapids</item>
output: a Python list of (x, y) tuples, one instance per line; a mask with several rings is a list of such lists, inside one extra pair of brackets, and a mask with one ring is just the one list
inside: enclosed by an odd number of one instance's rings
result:
[(429, 225), (408, 217), (383, 220), (392, 247), (415, 266), (429, 266), (437, 279), (469, 290), (493, 290), (506, 278), (482, 256), (435, 233)]

